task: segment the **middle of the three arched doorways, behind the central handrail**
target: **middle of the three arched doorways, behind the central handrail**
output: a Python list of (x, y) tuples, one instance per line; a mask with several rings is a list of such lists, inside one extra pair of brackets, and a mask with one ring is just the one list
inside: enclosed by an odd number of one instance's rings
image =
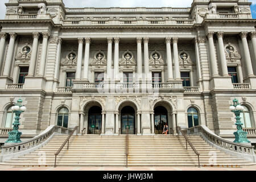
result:
[(129, 127), (129, 134), (135, 134), (135, 110), (131, 106), (125, 106), (121, 110), (121, 134), (126, 134)]

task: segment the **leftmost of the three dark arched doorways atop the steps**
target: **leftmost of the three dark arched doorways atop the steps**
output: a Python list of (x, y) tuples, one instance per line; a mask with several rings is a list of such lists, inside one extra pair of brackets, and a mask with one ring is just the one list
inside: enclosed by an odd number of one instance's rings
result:
[(88, 134), (101, 134), (102, 109), (99, 106), (90, 107), (88, 111)]

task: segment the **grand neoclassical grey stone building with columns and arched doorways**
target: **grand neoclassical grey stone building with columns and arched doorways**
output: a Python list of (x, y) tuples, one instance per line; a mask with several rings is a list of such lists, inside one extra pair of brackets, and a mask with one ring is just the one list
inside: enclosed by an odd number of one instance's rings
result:
[(60, 125), (102, 135), (129, 126), (130, 134), (151, 135), (167, 122), (169, 134), (206, 125), (233, 138), (236, 97), (243, 126), (255, 133), (250, 4), (68, 8), (61, 0), (9, 0), (0, 20), (1, 128), (11, 127), (10, 107), (22, 98), (23, 134)]

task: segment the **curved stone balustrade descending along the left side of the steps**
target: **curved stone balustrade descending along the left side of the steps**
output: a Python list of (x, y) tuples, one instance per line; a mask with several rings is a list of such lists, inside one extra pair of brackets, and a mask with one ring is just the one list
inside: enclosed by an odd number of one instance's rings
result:
[(47, 140), (53, 133), (64, 133), (64, 134), (70, 134), (73, 130), (67, 129), (61, 126), (53, 126), (50, 130), (48, 130), (46, 133), (40, 134), (38, 137), (34, 137), (32, 139), (27, 140), (26, 142), (16, 143), (16, 144), (10, 144), (7, 146), (2, 146), (2, 155), (6, 154), (13, 154), (16, 152), (24, 151), (29, 148), (38, 146), (40, 143), (43, 143), (45, 140)]

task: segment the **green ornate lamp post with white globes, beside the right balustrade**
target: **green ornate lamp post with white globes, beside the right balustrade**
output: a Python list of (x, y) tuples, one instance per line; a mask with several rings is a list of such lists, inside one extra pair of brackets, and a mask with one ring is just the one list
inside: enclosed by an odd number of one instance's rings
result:
[(234, 132), (234, 135), (236, 139), (234, 142), (236, 143), (250, 143), (250, 141), (247, 139), (246, 135), (247, 132), (242, 130), (243, 123), (241, 122), (240, 113), (243, 111), (243, 106), (241, 106), (238, 103), (238, 100), (235, 98), (233, 100), (233, 105), (230, 105), (229, 109), (236, 115), (236, 125), (237, 125), (237, 131)]

